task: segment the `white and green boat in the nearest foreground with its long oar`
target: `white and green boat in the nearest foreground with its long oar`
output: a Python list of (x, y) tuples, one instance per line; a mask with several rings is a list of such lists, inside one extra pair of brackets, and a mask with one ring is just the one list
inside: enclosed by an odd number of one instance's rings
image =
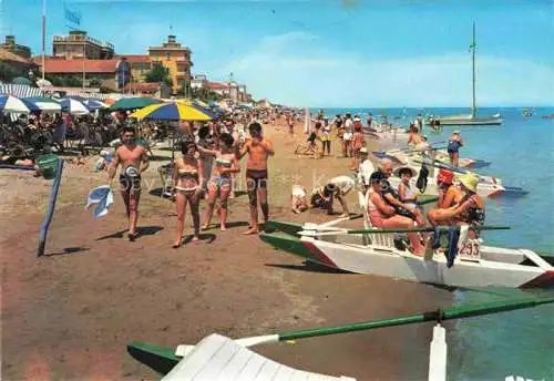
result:
[[(305, 338), (435, 321), (429, 350), (428, 380), (445, 381), (448, 343), (447, 330), (442, 326), (443, 321), (533, 308), (551, 302), (554, 302), (554, 298), (552, 297), (533, 297), (449, 309), (439, 308), (433, 311), (392, 319), (318, 327), (236, 340), (213, 333), (204, 338), (196, 346), (185, 344), (176, 348), (163, 348), (135, 341), (127, 346), (127, 352), (141, 363), (163, 374), (164, 378), (162, 380), (164, 381), (356, 381), (356, 379), (348, 377), (322, 375), (296, 370), (267, 359), (248, 348), (278, 342), (291, 343)], [(370, 373), (369, 369), (368, 373)]]

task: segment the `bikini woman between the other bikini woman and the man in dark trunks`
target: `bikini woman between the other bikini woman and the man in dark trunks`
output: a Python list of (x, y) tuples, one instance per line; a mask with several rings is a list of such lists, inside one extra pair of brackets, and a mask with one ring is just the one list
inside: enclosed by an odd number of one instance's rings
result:
[(232, 174), (240, 172), (240, 165), (235, 155), (235, 140), (230, 134), (222, 134), (219, 136), (219, 150), (211, 151), (199, 148), (204, 155), (212, 155), (215, 157), (215, 164), (212, 169), (212, 177), (208, 182), (208, 198), (206, 214), (204, 215), (203, 230), (209, 227), (212, 216), (214, 215), (215, 200), (219, 196), (219, 218), (220, 229), (224, 231), (225, 223), (227, 220), (228, 198), (232, 190)]

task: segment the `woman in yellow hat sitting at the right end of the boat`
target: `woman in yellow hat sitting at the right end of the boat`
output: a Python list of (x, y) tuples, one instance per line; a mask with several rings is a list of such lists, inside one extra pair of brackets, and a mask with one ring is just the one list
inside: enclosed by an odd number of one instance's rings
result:
[(429, 223), (439, 225), (483, 225), (485, 218), (485, 205), (476, 194), (479, 176), (468, 173), (459, 178), (462, 199), (454, 206), (445, 209), (432, 209), (428, 213)]

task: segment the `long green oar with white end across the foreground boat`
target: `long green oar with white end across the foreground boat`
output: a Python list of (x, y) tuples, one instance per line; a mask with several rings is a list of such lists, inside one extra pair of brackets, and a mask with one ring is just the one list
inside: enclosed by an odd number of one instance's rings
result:
[(398, 317), (392, 319), (370, 320), (370, 321), (352, 322), (341, 326), (304, 329), (293, 332), (256, 336), (250, 338), (238, 339), (236, 341), (245, 347), (249, 347), (261, 343), (290, 341), (297, 339), (306, 339), (306, 338), (337, 334), (337, 333), (348, 333), (356, 331), (366, 331), (376, 328), (406, 326), (425, 321), (440, 322), (452, 319), (473, 318), (483, 315), (499, 313), (523, 308), (532, 308), (540, 305), (552, 303), (552, 302), (554, 302), (554, 297), (526, 298), (519, 300), (496, 301), (484, 305), (468, 305), (448, 309), (438, 309), (434, 311), (428, 311), (428, 312)]

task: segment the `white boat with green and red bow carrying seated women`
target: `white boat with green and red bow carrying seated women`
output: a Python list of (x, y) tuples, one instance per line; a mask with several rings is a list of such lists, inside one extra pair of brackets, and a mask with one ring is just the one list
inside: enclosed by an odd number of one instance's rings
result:
[(480, 246), (478, 256), (459, 255), (453, 267), (448, 268), (442, 254), (423, 258), (399, 247), (393, 236), (402, 229), (347, 230), (335, 227), (343, 220), (304, 226), (273, 222), (276, 230), (260, 234), (260, 238), (276, 249), (356, 274), (455, 287), (554, 287), (554, 258), (529, 249)]

